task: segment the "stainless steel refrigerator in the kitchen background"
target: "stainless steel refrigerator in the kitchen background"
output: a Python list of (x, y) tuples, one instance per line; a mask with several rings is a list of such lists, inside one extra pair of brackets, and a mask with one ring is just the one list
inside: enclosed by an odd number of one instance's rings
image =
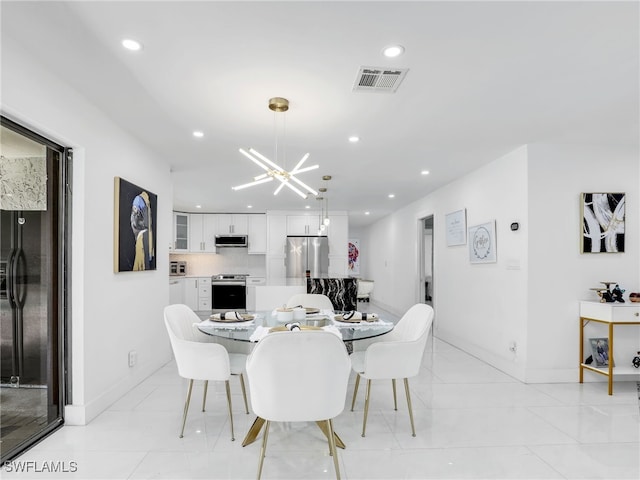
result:
[(329, 239), (327, 237), (287, 237), (287, 277), (301, 278), (309, 270), (314, 278), (329, 274)]

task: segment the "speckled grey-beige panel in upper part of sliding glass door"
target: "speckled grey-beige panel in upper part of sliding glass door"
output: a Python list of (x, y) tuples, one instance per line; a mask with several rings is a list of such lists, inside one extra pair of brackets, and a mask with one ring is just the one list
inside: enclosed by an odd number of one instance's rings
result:
[(47, 209), (47, 162), (45, 157), (0, 157), (0, 208)]

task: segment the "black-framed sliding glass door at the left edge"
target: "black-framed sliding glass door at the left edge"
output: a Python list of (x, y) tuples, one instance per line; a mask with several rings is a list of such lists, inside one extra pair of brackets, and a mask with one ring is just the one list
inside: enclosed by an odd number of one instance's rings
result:
[(63, 423), (67, 151), (0, 117), (0, 463)]

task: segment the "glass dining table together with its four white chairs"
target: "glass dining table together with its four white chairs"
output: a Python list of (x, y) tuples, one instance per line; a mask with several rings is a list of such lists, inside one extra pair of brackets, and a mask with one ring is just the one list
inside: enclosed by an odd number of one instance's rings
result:
[[(234, 420), (239, 415), (232, 403), (230, 379), (238, 377), (239, 385), (233, 388), (241, 392), (242, 417), (253, 419), (250, 424), (240, 420), (244, 426), (241, 446), (260, 444), (256, 478), (263, 472), (271, 476), (270, 452), (281, 448), (277, 439), (283, 432), (289, 437), (294, 431), (296, 435), (286, 441), (297, 442), (293, 437), (300, 436), (299, 441), (308, 442), (309, 436), (314, 437), (315, 441), (309, 442), (311, 458), (321, 448), (322, 458), (329, 462), (327, 468), (331, 464), (335, 478), (341, 478), (339, 456), (348, 447), (334, 429), (334, 419), (349, 404), (352, 412), (362, 411), (359, 430), (365, 438), (372, 382), (390, 380), (393, 400), (387, 399), (388, 409), (395, 411), (396, 379), (404, 382), (406, 407), (401, 409), (408, 412), (410, 420), (407, 435), (416, 436), (409, 379), (419, 373), (431, 331), (433, 309), (428, 305), (416, 304), (397, 320), (373, 311), (334, 310), (324, 295), (299, 294), (272, 311), (194, 312), (175, 304), (165, 308), (164, 317), (178, 374), (188, 381), (176, 435), (185, 438), (189, 415), (196, 415), (195, 402), (193, 413), (189, 413), (194, 385), (201, 384), (201, 413), (223, 408), (222, 398), (216, 398), (215, 406), (213, 401), (207, 402), (210, 383), (217, 383), (220, 388), (224, 385), (226, 396), (227, 439), (235, 443), (238, 428)], [(349, 402), (352, 377), (355, 387)], [(364, 399), (357, 402), (361, 379), (366, 382)], [(271, 431), (277, 432), (276, 440), (269, 442)], [(324, 439), (324, 446), (317, 442), (318, 437)], [(292, 463), (289, 472), (296, 478), (308, 473), (301, 456), (304, 454), (298, 454), (299, 461)]]

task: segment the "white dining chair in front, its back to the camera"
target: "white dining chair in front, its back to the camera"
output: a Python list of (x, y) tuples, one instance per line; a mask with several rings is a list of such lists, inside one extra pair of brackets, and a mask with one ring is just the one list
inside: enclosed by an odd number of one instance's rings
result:
[(327, 430), (336, 478), (340, 478), (332, 419), (344, 410), (350, 369), (343, 342), (331, 332), (273, 332), (258, 342), (247, 359), (251, 405), (266, 421), (258, 479), (270, 423), (311, 421)]

